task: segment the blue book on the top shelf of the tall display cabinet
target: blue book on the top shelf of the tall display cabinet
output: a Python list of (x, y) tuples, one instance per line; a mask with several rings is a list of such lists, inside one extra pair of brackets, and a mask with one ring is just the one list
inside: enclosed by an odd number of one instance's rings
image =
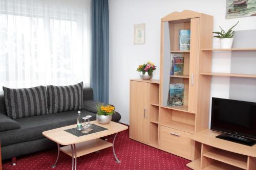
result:
[(190, 50), (190, 30), (179, 30), (179, 51)]

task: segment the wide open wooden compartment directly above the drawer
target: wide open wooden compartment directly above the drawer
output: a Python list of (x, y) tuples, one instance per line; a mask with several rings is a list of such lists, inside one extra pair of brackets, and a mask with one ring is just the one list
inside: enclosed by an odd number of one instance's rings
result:
[(184, 132), (195, 132), (195, 114), (171, 110), (163, 107), (160, 107), (159, 109), (160, 125)]

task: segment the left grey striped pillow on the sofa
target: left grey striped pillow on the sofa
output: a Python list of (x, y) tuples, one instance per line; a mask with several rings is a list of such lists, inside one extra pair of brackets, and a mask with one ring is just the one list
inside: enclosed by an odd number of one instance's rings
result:
[(22, 118), (47, 114), (47, 90), (45, 86), (11, 89), (3, 87), (7, 115)]

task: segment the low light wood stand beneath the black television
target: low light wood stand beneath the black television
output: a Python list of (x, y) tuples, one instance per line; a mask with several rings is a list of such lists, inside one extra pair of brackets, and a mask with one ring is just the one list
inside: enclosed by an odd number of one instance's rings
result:
[(187, 164), (195, 170), (255, 170), (256, 145), (249, 147), (244, 144), (217, 138), (220, 132), (209, 129), (191, 136), (195, 140), (196, 156), (193, 162)]

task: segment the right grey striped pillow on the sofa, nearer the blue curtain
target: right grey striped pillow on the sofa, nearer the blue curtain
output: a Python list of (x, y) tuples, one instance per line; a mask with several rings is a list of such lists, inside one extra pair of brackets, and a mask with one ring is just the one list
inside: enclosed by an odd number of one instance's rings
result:
[(83, 82), (71, 86), (47, 86), (49, 112), (81, 110)]

